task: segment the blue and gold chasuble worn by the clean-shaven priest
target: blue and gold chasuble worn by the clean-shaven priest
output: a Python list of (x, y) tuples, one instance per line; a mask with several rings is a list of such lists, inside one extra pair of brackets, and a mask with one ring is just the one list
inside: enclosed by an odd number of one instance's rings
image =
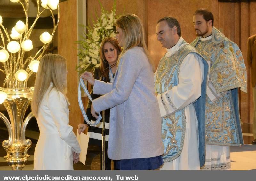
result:
[[(196, 53), (196, 49), (189, 45), (186, 41), (182, 41), (179, 49), (170, 57), (162, 57), (159, 62), (157, 72), (156, 72), (156, 82), (155, 89), (156, 93), (162, 94), (162, 96), (167, 96), (168, 94), (163, 95), (164, 92), (171, 90), (172, 87), (179, 84), (179, 72), (180, 66), (183, 59), (189, 53)], [(201, 56), (200, 54), (198, 54)], [(204, 129), (205, 129), (205, 98), (206, 98), (206, 81), (207, 81), (207, 72), (208, 64), (203, 60), (204, 64), (204, 81), (201, 88), (201, 97), (196, 101), (195, 109), (198, 118), (198, 128), (199, 128), (199, 158), (200, 166), (204, 165), (205, 162), (205, 151), (204, 151)], [(175, 106), (172, 102), (169, 102), (170, 105), (174, 108)], [(164, 101), (163, 105), (168, 114), (168, 109), (166, 108)], [(202, 109), (203, 108), (203, 109)], [(200, 121), (203, 120), (203, 121)], [(186, 130), (186, 117), (185, 117), (185, 108), (177, 110), (175, 113), (169, 114), (168, 116), (162, 118), (162, 141), (164, 144), (164, 162), (170, 162), (180, 156), (184, 144)]]

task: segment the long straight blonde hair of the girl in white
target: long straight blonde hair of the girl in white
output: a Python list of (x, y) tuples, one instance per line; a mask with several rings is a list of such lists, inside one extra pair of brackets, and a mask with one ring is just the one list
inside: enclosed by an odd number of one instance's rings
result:
[[(38, 116), (38, 109), (40, 103), (51, 82), (53, 83), (52, 89), (56, 88), (66, 97), (66, 59), (59, 54), (46, 54), (40, 60), (40, 64), (36, 74), (35, 90), (31, 102), (31, 109), (35, 117)], [(68, 100), (67, 97), (66, 100)]]

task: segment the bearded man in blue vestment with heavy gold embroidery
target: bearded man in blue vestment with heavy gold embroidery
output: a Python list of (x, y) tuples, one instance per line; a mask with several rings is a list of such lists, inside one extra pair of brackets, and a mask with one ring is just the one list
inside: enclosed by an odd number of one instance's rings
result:
[(230, 170), (230, 146), (243, 145), (238, 88), (247, 92), (246, 68), (236, 43), (213, 26), (212, 12), (193, 16), (197, 38), (191, 43), (209, 64), (206, 89), (205, 165), (202, 170)]

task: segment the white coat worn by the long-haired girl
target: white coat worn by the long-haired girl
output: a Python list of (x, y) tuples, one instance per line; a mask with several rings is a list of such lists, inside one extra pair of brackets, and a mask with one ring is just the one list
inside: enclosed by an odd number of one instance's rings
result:
[(51, 83), (38, 109), (40, 136), (35, 148), (34, 170), (74, 170), (72, 151), (80, 153), (81, 149), (68, 124), (65, 96), (52, 86)]

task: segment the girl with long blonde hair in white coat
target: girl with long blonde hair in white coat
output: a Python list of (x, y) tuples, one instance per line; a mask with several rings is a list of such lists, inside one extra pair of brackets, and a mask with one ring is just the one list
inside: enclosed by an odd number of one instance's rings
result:
[(66, 59), (58, 54), (42, 57), (31, 103), (40, 136), (35, 148), (34, 170), (74, 170), (80, 146), (68, 115)]

